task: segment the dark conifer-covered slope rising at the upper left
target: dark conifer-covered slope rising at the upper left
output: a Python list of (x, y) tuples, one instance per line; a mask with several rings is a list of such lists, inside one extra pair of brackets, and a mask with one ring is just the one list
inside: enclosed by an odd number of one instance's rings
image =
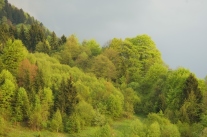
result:
[(66, 42), (64, 35), (58, 38), (55, 32), (50, 32), (22, 9), (12, 6), (7, 0), (0, 0), (0, 41), (5, 44), (8, 39), (20, 39), (30, 52), (48, 54)]

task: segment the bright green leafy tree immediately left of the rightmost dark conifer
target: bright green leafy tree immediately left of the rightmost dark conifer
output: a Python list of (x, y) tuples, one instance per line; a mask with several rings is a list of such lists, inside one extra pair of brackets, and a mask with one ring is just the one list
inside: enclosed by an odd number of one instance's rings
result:
[(185, 68), (169, 71), (162, 88), (163, 95), (166, 97), (166, 116), (173, 122), (179, 120), (179, 111), (183, 104), (181, 96), (189, 75), (190, 71)]

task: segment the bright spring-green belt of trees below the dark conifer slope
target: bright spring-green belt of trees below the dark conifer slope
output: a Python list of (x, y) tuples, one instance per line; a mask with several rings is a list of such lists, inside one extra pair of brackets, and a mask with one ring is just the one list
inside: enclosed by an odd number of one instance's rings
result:
[[(184, 68), (168, 69), (149, 36), (113, 39), (101, 48), (71, 35), (60, 49), (28, 53), (20, 40), (7, 41), (0, 55), (3, 120), (73, 133), (158, 113), (181, 136), (205, 131), (205, 81)], [(161, 130), (163, 123), (154, 122)]]

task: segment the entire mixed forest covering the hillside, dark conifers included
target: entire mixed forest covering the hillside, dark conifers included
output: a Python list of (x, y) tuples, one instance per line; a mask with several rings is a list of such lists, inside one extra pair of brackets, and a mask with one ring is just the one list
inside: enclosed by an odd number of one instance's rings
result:
[(58, 37), (0, 0), (0, 136), (89, 128), (94, 137), (207, 137), (207, 78), (171, 69), (146, 34), (104, 46)]

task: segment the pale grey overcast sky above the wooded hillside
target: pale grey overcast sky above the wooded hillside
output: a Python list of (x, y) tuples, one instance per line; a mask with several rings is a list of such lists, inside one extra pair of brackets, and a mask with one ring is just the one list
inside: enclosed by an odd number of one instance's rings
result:
[(207, 0), (8, 0), (58, 36), (104, 46), (147, 34), (170, 68), (207, 76)]

